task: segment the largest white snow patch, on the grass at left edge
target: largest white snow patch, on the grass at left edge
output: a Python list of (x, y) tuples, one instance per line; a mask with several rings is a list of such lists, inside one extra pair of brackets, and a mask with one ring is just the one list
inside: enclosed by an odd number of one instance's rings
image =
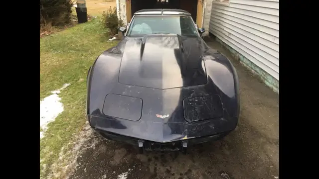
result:
[(44, 137), (43, 132), (47, 129), (47, 125), (63, 112), (63, 104), (60, 102), (61, 98), (58, 94), (69, 85), (64, 84), (61, 89), (51, 91), (53, 94), (40, 101), (40, 128), (42, 129), (40, 138)]

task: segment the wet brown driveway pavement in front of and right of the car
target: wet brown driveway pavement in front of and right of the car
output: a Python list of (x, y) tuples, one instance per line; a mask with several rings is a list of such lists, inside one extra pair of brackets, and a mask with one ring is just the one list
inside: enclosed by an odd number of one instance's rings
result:
[(241, 111), (235, 131), (220, 141), (191, 146), (186, 155), (141, 155), (130, 145), (91, 134), (70, 179), (278, 179), (278, 94), (234, 60), (219, 43), (207, 44), (226, 55), (237, 69)]

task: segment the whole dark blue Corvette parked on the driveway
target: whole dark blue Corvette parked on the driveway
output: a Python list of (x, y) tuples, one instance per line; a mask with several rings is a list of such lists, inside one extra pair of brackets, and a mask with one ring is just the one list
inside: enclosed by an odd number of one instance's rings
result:
[(182, 150), (218, 140), (239, 117), (236, 70), (209, 48), (190, 14), (136, 12), (117, 46), (88, 72), (87, 115), (103, 137), (144, 150)]

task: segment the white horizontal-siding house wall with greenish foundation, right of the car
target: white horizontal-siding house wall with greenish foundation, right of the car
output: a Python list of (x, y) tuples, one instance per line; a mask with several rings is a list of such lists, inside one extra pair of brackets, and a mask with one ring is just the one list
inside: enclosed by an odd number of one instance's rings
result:
[(279, 0), (212, 1), (211, 6), (209, 32), (279, 92)]

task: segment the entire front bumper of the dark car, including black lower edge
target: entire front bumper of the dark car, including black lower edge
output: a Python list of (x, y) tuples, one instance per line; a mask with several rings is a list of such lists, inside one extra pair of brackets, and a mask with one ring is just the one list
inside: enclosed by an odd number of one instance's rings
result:
[(93, 115), (88, 115), (88, 120), (104, 138), (156, 151), (177, 151), (188, 145), (219, 140), (234, 130), (238, 122), (237, 117), (188, 123), (130, 121)]

